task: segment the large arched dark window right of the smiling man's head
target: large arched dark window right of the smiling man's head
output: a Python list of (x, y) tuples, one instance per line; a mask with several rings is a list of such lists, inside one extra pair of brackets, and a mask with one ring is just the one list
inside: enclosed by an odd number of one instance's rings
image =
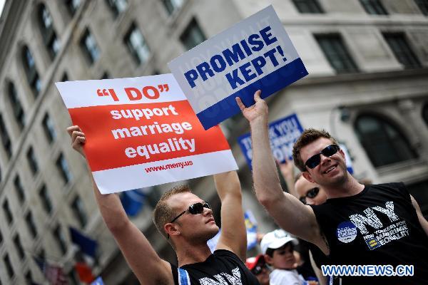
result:
[(360, 115), (355, 132), (374, 167), (417, 158), (406, 137), (391, 123), (374, 115)]

